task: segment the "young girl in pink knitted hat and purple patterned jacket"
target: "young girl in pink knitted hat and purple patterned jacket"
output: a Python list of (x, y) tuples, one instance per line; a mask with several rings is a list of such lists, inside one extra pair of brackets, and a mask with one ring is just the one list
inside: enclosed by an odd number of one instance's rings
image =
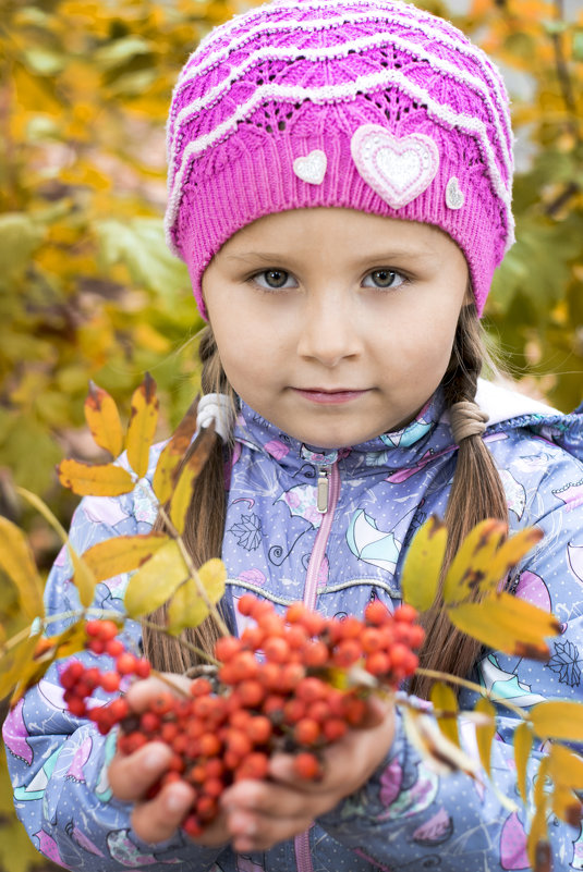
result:
[[(168, 156), (168, 240), (209, 322), (199, 423), (216, 418), (223, 439), (196, 488), (187, 546), (197, 562), (222, 555), (233, 630), (245, 591), (280, 609), (303, 599), (328, 616), (360, 616), (375, 598), (392, 609), (408, 545), (432, 513), (450, 527), (449, 560), (493, 516), (511, 532), (544, 530), (509, 589), (552, 610), (562, 635), (547, 663), (532, 663), (481, 652), (436, 614), (423, 663), (474, 673), (523, 707), (578, 699), (581, 414), (478, 379), (478, 317), (513, 241), (508, 100), (488, 58), (450, 24), (392, 0), (277, 0), (217, 27), (189, 59)], [(86, 498), (71, 531), (77, 550), (150, 529), (156, 509), (137, 493)], [(63, 554), (49, 613), (76, 604), (70, 575)], [(125, 582), (100, 585), (97, 605), (121, 609)], [(158, 667), (191, 665), (132, 622), (127, 632)], [(297, 781), (280, 756), (269, 782), (236, 783), (190, 840), (180, 831), (186, 785), (145, 798), (168, 749), (117, 756), (114, 736), (64, 711), (58, 668), (10, 714), (4, 739), (19, 814), (65, 868), (529, 867), (518, 722), (506, 709), (498, 791), (436, 773), (400, 714), (372, 704), (369, 728), (326, 752), (321, 782)], [(412, 690), (424, 697), (427, 686)], [(148, 680), (130, 695), (139, 709), (155, 692)], [(462, 692), (461, 705), (471, 702)], [(582, 869), (579, 831), (555, 820), (549, 831), (554, 869)]]

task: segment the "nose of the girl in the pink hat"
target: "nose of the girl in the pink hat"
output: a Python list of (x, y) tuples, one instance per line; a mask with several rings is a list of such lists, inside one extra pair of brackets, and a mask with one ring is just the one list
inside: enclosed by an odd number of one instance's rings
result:
[(359, 318), (350, 294), (308, 294), (299, 332), (300, 357), (332, 368), (344, 358), (357, 357), (361, 351)]

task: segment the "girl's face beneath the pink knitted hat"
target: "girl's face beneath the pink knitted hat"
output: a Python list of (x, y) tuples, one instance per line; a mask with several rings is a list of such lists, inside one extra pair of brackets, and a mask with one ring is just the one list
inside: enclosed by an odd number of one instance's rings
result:
[(447, 369), (466, 286), (465, 259), (441, 231), (339, 208), (248, 224), (203, 277), (233, 389), (325, 449), (415, 417)]

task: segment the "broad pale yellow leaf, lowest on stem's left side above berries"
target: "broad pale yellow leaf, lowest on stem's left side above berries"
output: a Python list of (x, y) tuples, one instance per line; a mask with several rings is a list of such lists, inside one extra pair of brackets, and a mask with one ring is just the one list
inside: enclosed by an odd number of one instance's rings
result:
[(171, 539), (131, 577), (123, 598), (129, 616), (142, 617), (155, 612), (187, 577), (180, 549)]

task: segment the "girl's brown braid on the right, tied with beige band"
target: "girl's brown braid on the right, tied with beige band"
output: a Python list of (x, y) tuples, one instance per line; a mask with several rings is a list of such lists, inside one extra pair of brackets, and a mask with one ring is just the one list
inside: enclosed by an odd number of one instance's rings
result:
[[(471, 310), (469, 310), (471, 309)], [(473, 307), (462, 309), (453, 343), (450, 366), (444, 378), (447, 406), (462, 401), (474, 402), (477, 377), (486, 356), (481, 326)], [(448, 528), (442, 578), (456, 552), (472, 527), (493, 517), (508, 523), (508, 506), (496, 465), (481, 435), (460, 442), (456, 472), (448, 499), (445, 523)], [(421, 665), (466, 677), (474, 666), (481, 643), (451, 624), (442, 600), (425, 616), (426, 642)], [(412, 692), (428, 697), (433, 679), (417, 676)]]

